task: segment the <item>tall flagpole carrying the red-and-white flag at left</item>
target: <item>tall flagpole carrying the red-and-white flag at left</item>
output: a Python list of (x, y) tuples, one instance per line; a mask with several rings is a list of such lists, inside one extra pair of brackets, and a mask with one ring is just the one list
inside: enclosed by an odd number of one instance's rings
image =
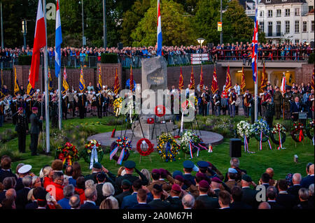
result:
[[(47, 22), (46, 22), (46, 0), (43, 0), (43, 16), (45, 20), (45, 35), (47, 36)], [(46, 129), (46, 153), (50, 152), (50, 123), (49, 123), (49, 96), (48, 96), (48, 50), (47, 38), (44, 50), (44, 65), (45, 65), (45, 129)]]

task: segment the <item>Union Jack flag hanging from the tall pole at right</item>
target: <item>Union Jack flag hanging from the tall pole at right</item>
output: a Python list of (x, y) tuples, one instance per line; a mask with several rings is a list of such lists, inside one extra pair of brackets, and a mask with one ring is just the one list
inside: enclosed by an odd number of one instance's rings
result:
[(253, 81), (256, 83), (257, 81), (257, 63), (258, 63), (258, 21), (257, 21), (257, 14), (258, 14), (258, 0), (255, 0), (255, 24), (253, 30), (253, 53), (251, 54), (251, 69), (253, 69)]

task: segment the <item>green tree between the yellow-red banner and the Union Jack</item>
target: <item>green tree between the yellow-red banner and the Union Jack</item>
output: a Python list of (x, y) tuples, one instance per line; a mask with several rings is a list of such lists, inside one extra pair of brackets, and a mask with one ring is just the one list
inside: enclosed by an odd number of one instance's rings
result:
[(223, 13), (223, 41), (251, 41), (253, 38), (253, 20), (249, 18), (243, 6), (237, 0), (228, 3), (228, 9)]

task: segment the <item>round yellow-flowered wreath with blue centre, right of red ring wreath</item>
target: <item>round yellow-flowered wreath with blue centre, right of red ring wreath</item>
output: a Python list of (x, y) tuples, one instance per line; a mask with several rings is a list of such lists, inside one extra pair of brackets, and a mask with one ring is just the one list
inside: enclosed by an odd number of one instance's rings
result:
[[(164, 145), (166, 144), (166, 148)], [(179, 154), (180, 146), (176, 143), (174, 137), (170, 134), (162, 134), (158, 138), (158, 153), (162, 159), (168, 161), (176, 161), (176, 156)]]

